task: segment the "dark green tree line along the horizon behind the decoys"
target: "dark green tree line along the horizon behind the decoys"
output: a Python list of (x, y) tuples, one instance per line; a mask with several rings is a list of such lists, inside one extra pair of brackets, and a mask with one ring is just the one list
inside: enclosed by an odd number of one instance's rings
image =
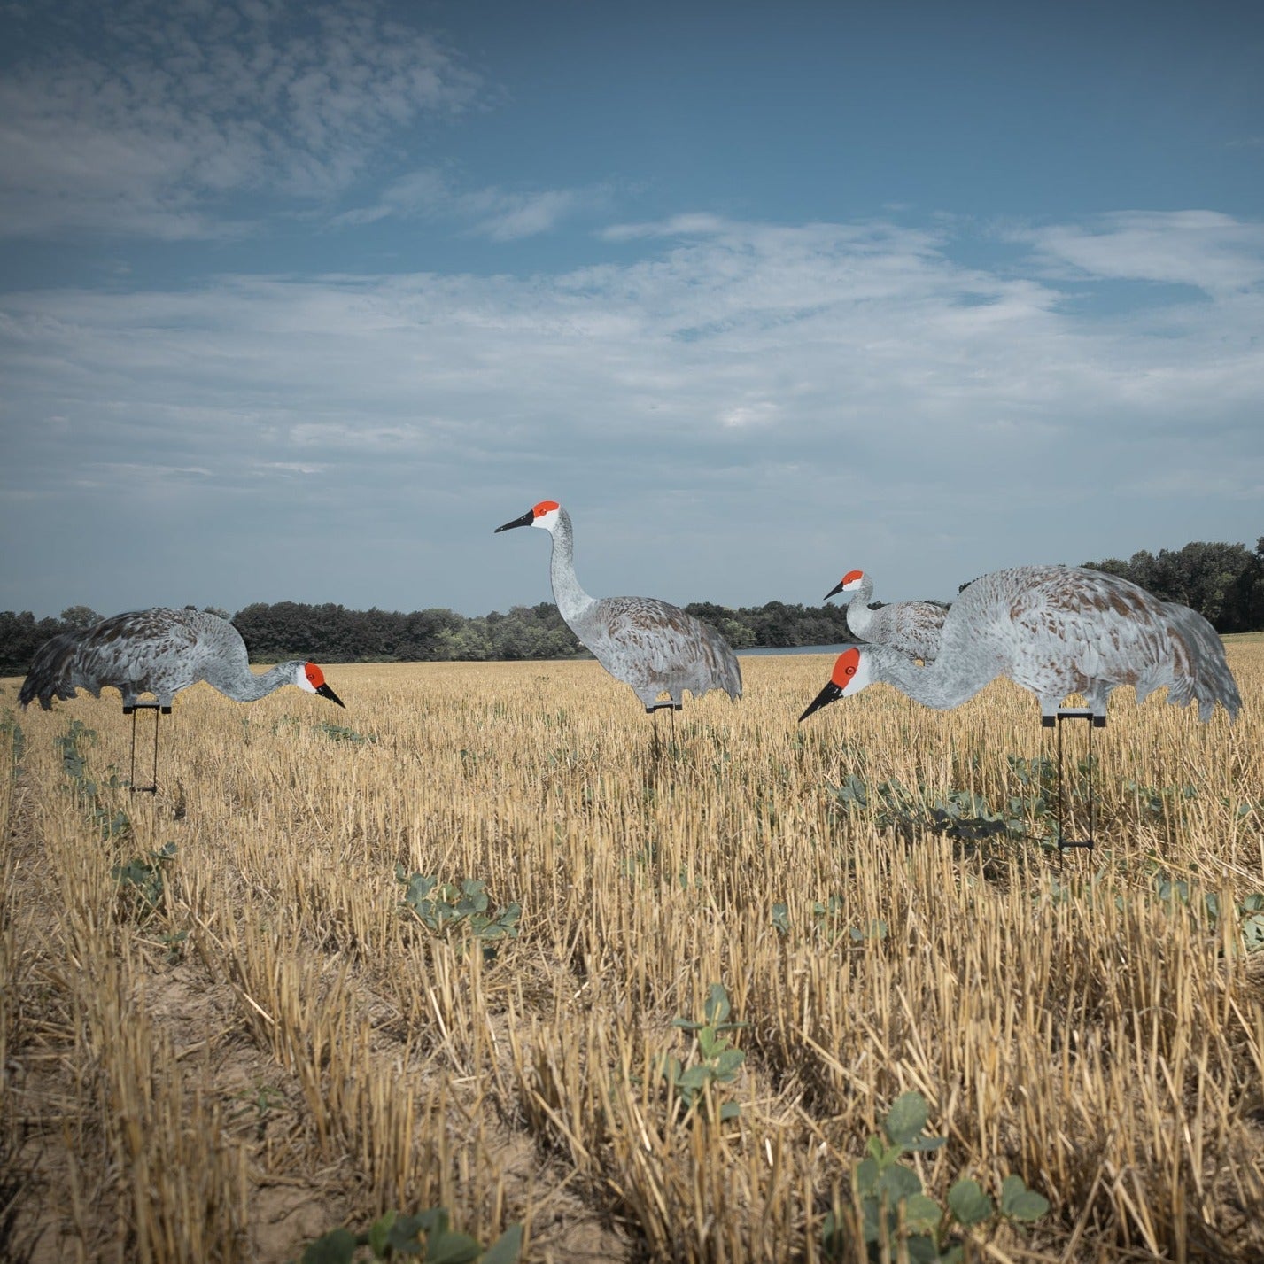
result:
[[(1163, 600), (1192, 607), (1217, 632), (1264, 631), (1264, 536), (1254, 552), (1245, 545), (1188, 544), (1158, 555), (1136, 552), (1127, 561), (1107, 557), (1085, 565), (1131, 579)], [(694, 602), (685, 609), (714, 626), (734, 650), (837, 645), (849, 637), (843, 604), (766, 602), (732, 608)], [(229, 618), (225, 611), (212, 613)], [(99, 618), (85, 605), (62, 611), (58, 619), (0, 611), (0, 675), (25, 674), (44, 641)], [(231, 619), (254, 662), (303, 657), (326, 664), (484, 661), (586, 653), (551, 602), (475, 617), (439, 608), (403, 614), (349, 611), (330, 602), (255, 602)]]

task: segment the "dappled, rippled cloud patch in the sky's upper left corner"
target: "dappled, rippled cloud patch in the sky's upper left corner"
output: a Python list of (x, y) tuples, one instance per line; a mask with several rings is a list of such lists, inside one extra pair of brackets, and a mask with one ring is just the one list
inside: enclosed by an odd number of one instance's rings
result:
[(479, 91), (453, 53), (367, 0), (125, 0), (102, 15), (59, 6), (66, 28), (96, 35), (90, 51), (58, 43), (0, 75), (0, 233), (240, 233), (224, 214), (234, 195), (330, 197), (393, 130)]

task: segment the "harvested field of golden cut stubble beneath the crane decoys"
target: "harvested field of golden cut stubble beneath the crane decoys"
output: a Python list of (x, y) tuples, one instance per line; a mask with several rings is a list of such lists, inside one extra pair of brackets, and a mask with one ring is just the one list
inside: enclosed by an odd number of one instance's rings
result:
[(927, 1196), (1049, 1203), (944, 1248), (1259, 1260), (1264, 642), (1229, 656), (1234, 726), (1115, 694), (1062, 857), (1006, 681), (800, 726), (830, 660), (747, 659), (656, 744), (593, 662), (334, 666), (345, 712), (182, 694), (152, 795), (116, 695), (4, 681), (0, 1255), (281, 1261), (442, 1206), (532, 1261), (861, 1260), (916, 1092)]

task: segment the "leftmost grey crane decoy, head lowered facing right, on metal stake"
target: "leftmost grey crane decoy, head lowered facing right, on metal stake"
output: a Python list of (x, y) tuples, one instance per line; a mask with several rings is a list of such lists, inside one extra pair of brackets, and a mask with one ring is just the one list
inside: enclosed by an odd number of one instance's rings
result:
[[(52, 637), (35, 651), (18, 700), (27, 707), (38, 698), (48, 710), (54, 698), (73, 698), (76, 689), (100, 698), (104, 688), (114, 686), (123, 694), (123, 714), (131, 715), (133, 774), (137, 709), (152, 708), (154, 784), (140, 789), (155, 790), (158, 713), (171, 714), (172, 698), (200, 680), (239, 703), (255, 702), (283, 685), (297, 685), (339, 707), (346, 705), (315, 662), (292, 659), (255, 675), (241, 633), (228, 619), (191, 607), (114, 614), (92, 627)], [(140, 694), (154, 694), (158, 700), (140, 702)]]

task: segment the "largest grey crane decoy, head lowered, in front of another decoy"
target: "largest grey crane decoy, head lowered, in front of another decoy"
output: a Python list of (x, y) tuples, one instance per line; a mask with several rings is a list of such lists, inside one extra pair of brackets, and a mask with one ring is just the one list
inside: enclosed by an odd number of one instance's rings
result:
[(1081, 566), (1015, 566), (976, 579), (953, 602), (934, 662), (919, 667), (890, 646), (853, 646), (799, 719), (875, 681), (947, 709), (997, 676), (1030, 689), (1048, 727), (1072, 693), (1082, 694), (1093, 723), (1103, 724), (1116, 685), (1135, 686), (1138, 700), (1165, 685), (1173, 705), (1197, 700), (1201, 720), (1217, 702), (1230, 719), (1241, 707), (1224, 643), (1187, 605)]

